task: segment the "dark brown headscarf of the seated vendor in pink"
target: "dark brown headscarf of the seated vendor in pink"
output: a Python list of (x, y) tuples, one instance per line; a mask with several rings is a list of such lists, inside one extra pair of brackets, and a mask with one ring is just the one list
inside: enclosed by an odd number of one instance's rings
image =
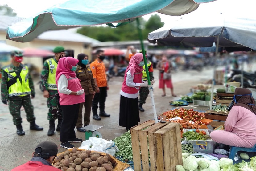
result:
[(237, 103), (234, 104), (234, 106), (244, 107), (256, 115), (255, 100), (252, 97), (251, 90), (243, 89), (243, 88), (236, 88), (235, 95), (244, 95), (244, 96), (235, 96)]

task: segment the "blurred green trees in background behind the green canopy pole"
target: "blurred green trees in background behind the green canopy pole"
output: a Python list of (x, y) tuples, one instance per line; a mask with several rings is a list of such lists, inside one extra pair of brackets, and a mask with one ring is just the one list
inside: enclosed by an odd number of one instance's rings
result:
[[(143, 18), (139, 18), (139, 21), (141, 24), (140, 27), (142, 28), (143, 39), (147, 39), (148, 33), (164, 25), (157, 14), (152, 15), (148, 21), (145, 21)], [(110, 26), (84, 26), (78, 29), (77, 32), (101, 42), (139, 40), (136, 21), (117, 28)]]

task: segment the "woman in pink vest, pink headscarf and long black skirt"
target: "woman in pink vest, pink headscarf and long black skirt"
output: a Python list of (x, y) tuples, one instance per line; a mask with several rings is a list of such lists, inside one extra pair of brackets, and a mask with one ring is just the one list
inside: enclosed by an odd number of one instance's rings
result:
[[(148, 83), (142, 80), (144, 61), (142, 53), (135, 54), (127, 67), (121, 89), (119, 126), (131, 127), (140, 122), (138, 108), (138, 91), (140, 87), (147, 87)], [(154, 83), (154, 80), (151, 84)]]

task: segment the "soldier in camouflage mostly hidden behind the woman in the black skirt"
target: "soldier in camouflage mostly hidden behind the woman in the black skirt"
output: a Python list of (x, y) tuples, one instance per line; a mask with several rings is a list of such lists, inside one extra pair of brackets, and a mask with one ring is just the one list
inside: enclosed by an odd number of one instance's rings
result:
[[(140, 51), (140, 53), (142, 53), (142, 50)], [(145, 51), (146, 53), (146, 51)], [(146, 58), (147, 58), (147, 54), (146, 54)], [(148, 72), (149, 72), (149, 77), (150, 77), (150, 81), (152, 81), (154, 79), (153, 77), (153, 65), (151, 62), (147, 61), (147, 67), (148, 67)], [(143, 66), (143, 76), (142, 76), (142, 80), (143, 81), (147, 81), (147, 73), (146, 73), (146, 68), (145, 65)], [(142, 108), (142, 105), (146, 103), (146, 99), (147, 96), (149, 94), (149, 89), (148, 87), (141, 87), (139, 90), (139, 110), (141, 112), (144, 112), (145, 110)]]

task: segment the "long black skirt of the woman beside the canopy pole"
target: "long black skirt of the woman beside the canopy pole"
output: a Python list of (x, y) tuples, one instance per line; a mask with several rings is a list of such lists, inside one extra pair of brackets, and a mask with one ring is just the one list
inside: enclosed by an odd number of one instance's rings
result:
[(121, 95), (120, 109), (119, 109), (119, 126), (126, 127), (126, 130), (138, 125), (139, 119), (139, 107), (138, 97), (127, 98)]

